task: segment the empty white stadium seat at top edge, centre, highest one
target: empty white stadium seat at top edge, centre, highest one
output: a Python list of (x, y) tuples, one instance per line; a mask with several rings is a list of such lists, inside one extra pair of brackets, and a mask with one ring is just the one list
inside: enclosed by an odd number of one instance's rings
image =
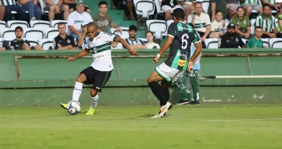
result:
[(150, 15), (155, 12), (155, 4), (153, 0), (133, 0), (137, 18), (141, 20), (149, 19)]

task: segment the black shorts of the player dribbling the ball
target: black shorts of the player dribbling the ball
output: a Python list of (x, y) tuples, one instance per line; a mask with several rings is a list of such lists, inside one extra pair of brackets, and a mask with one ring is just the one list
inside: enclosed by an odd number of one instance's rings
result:
[(102, 87), (108, 82), (112, 71), (99, 71), (90, 66), (80, 73), (83, 73), (86, 76), (84, 84), (93, 84), (91, 88), (102, 92)]

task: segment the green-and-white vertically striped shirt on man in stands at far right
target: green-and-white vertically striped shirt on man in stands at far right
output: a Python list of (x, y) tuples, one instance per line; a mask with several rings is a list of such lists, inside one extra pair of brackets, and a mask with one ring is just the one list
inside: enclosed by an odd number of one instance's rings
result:
[(266, 32), (272, 32), (273, 29), (277, 28), (274, 16), (269, 16), (269, 20), (266, 20), (264, 14), (256, 17), (256, 26), (262, 27)]

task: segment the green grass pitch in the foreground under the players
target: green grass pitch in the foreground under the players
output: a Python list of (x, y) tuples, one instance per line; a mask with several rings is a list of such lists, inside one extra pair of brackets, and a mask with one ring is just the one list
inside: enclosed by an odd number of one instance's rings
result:
[(0, 148), (281, 149), (282, 105), (1, 107)]

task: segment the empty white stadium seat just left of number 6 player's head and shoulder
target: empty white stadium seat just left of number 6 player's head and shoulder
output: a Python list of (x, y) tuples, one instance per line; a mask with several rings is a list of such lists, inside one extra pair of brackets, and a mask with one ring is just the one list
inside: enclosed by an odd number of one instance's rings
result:
[(167, 22), (164, 20), (147, 20), (147, 29), (155, 34), (155, 41), (161, 42), (162, 36), (167, 32)]

